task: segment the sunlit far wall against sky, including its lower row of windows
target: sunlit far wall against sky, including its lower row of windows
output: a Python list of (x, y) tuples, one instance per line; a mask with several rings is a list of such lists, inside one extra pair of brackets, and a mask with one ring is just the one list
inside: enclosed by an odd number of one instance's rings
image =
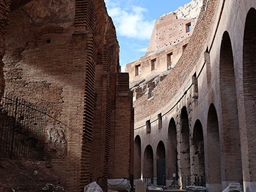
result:
[[(145, 79), (167, 70), (167, 55), (172, 53), (172, 67), (183, 54), (183, 46), (189, 42), (202, 6), (202, 0), (191, 1), (177, 11), (162, 15), (155, 23), (146, 55), (138, 61), (128, 63), (125, 72), (130, 75), (130, 82)], [(187, 31), (191, 24), (191, 31)], [(156, 59), (156, 67), (151, 69), (151, 61)], [(141, 74), (135, 75), (135, 66), (141, 66)]]

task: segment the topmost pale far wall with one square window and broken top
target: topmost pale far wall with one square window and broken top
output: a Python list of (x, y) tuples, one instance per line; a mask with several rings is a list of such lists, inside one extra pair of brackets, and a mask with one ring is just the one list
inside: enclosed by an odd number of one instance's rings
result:
[[(202, 4), (203, 0), (193, 0), (174, 12), (162, 15), (155, 23), (146, 55), (191, 36)], [(187, 32), (186, 28), (189, 23), (191, 32)]]

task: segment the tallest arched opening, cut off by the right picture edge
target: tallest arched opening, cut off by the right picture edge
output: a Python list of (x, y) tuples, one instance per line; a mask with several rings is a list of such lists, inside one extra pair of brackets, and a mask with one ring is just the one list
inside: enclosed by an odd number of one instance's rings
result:
[[(256, 9), (251, 8), (247, 13), (245, 34), (243, 41), (243, 99), (245, 107), (245, 119), (241, 122), (244, 134), (241, 141), (247, 141), (243, 158), (248, 162), (244, 175), (244, 181), (256, 182)], [(246, 132), (247, 133), (246, 133)], [(252, 191), (255, 189), (251, 188)]]

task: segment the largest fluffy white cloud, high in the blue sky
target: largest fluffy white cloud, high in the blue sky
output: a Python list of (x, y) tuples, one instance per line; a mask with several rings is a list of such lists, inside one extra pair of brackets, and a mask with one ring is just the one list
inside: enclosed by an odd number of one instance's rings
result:
[[(126, 36), (128, 38), (149, 40), (155, 20), (146, 20), (145, 13), (147, 9), (135, 5), (123, 5), (124, 8), (122, 8), (119, 2), (106, 0), (108, 14), (113, 18), (117, 33), (120, 36)], [(127, 9), (127, 7), (129, 7), (129, 9)]]

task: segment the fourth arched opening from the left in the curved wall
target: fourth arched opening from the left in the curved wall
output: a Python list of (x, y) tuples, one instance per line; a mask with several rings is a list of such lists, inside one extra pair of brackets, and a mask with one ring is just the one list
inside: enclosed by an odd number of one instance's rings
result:
[(170, 119), (168, 127), (168, 146), (167, 146), (167, 180), (175, 187), (178, 182), (178, 158), (177, 158), (177, 127), (174, 119)]

